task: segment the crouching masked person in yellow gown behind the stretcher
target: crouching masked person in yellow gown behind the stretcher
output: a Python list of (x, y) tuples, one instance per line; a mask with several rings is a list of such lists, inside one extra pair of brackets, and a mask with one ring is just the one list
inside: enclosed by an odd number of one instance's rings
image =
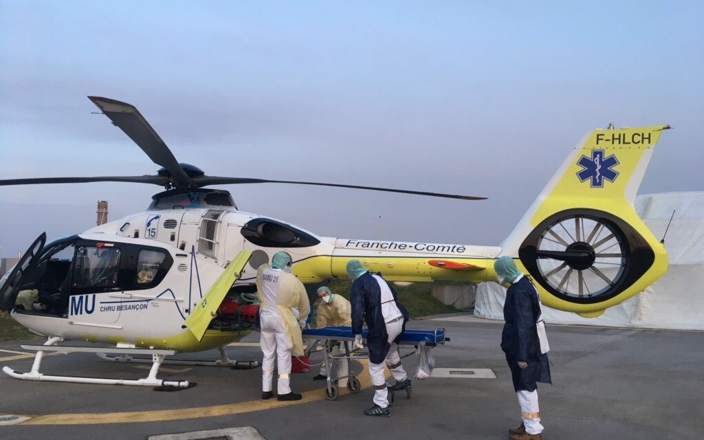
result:
[[(335, 295), (323, 286), (318, 289), (318, 310), (315, 311), (315, 324), (318, 328), (322, 327), (351, 327), (351, 306), (350, 302), (343, 298), (341, 295)], [(343, 344), (348, 344), (344, 342)], [(339, 356), (340, 352), (345, 353), (344, 346), (341, 346), (338, 341), (337, 344), (332, 346), (332, 356)], [(337, 370), (335, 367), (337, 366)], [(346, 360), (333, 360), (332, 369), (335, 371), (335, 376), (337, 379), (335, 382), (339, 381), (338, 385), (340, 387), (347, 386), (347, 375), (348, 375), (348, 365)], [(325, 380), (327, 379), (327, 368), (325, 363), (322, 363), (320, 367), (320, 373), (313, 377), (313, 380)]]

